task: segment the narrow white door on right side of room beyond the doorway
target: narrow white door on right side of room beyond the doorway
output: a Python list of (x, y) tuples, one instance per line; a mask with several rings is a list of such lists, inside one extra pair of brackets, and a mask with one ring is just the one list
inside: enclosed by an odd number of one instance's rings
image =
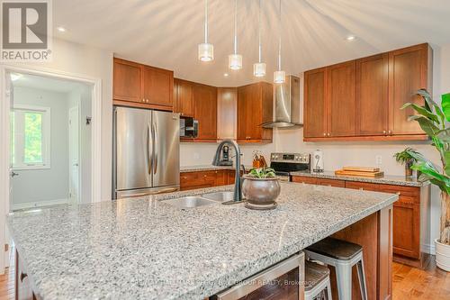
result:
[(68, 110), (68, 168), (69, 183), (68, 196), (69, 201), (77, 203), (79, 201), (80, 191), (80, 162), (79, 162), (79, 109), (78, 106), (71, 107)]

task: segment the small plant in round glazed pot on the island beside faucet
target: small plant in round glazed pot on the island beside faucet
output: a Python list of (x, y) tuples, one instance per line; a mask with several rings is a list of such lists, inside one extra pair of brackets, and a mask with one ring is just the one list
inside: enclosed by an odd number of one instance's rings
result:
[(247, 200), (247, 208), (267, 210), (276, 207), (280, 182), (273, 168), (252, 168), (244, 179), (242, 195)]

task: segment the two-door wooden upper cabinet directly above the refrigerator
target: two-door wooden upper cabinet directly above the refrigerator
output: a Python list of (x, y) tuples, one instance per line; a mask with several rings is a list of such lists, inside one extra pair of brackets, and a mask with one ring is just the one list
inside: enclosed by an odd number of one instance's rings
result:
[(114, 105), (172, 110), (172, 71), (114, 58), (112, 81)]

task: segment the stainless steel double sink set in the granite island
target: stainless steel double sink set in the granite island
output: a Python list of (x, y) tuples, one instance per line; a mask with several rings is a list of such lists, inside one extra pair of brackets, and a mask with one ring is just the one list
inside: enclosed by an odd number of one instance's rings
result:
[(180, 209), (195, 208), (204, 205), (218, 204), (224, 201), (231, 201), (233, 200), (233, 194), (233, 191), (215, 192), (204, 195), (189, 195), (181, 198), (162, 200), (162, 202)]

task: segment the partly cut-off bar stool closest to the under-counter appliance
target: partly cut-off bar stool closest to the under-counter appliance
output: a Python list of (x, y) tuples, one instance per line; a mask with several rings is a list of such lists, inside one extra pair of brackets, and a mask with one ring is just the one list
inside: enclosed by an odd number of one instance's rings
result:
[[(325, 294), (327, 292), (327, 294)], [(305, 300), (331, 300), (331, 284), (329, 268), (318, 263), (305, 262)]]

